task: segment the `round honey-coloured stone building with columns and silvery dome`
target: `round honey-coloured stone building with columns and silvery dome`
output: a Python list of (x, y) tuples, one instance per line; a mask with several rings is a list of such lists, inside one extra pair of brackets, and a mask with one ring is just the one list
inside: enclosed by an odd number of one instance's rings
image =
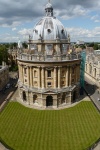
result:
[(69, 53), (70, 36), (48, 3), (29, 36), (28, 51), (18, 53), (19, 95), (23, 103), (59, 107), (79, 98), (80, 54)]

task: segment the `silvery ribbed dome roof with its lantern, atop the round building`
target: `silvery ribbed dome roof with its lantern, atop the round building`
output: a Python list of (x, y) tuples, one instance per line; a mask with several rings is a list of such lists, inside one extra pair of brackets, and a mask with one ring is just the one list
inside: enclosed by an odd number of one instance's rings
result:
[(48, 3), (45, 7), (46, 16), (34, 27), (32, 40), (65, 40), (67, 32), (62, 23), (53, 16), (53, 7)]

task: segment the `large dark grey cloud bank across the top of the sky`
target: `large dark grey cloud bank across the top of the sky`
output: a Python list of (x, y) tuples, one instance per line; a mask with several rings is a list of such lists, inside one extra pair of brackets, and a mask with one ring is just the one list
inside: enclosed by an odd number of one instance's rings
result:
[[(47, 0), (0, 0), (0, 26), (18, 26), (42, 17), (46, 3)], [(100, 7), (99, 0), (55, 0), (52, 3), (56, 15), (63, 19), (84, 16)]]

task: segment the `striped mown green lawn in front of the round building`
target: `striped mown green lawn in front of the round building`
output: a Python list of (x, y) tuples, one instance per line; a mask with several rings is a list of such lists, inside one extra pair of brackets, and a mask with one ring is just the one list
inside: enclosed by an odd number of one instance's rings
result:
[(14, 150), (83, 150), (100, 137), (100, 114), (89, 101), (63, 110), (10, 102), (0, 114), (0, 138)]

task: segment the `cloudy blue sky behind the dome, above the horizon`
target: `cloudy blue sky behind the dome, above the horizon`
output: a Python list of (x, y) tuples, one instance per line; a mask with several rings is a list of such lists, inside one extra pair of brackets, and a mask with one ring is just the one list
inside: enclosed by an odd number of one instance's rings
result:
[[(0, 0), (0, 42), (28, 41), (48, 0)], [(71, 42), (100, 42), (100, 0), (51, 0)]]

